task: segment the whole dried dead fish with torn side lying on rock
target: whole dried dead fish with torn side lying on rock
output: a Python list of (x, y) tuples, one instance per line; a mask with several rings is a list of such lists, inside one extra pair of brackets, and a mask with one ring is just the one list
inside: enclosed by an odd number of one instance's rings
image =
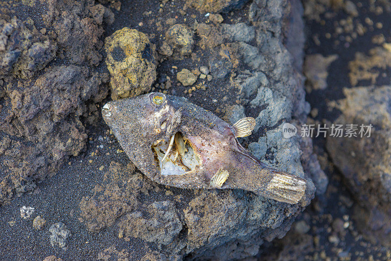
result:
[(298, 203), (306, 180), (266, 166), (238, 142), (254, 118), (233, 126), (186, 98), (150, 93), (108, 102), (102, 115), (130, 160), (153, 181), (186, 189), (243, 189)]

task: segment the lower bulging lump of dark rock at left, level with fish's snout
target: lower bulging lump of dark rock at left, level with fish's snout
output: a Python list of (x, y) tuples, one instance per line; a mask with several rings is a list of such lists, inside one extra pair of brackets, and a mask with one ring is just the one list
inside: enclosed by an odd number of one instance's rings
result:
[(19, 81), (24, 88), (6, 89), (0, 157), (7, 170), (1, 176), (0, 202), (34, 189), (36, 180), (85, 149), (87, 134), (79, 118), (87, 111), (85, 102), (107, 94), (98, 88), (101, 82), (86, 67), (54, 66), (32, 83)]

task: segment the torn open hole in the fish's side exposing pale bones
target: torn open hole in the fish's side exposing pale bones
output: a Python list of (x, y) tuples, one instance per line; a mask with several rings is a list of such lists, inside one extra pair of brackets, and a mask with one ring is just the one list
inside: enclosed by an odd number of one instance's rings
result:
[(159, 140), (152, 145), (161, 175), (184, 175), (202, 166), (195, 146), (182, 133), (175, 133), (170, 141)]

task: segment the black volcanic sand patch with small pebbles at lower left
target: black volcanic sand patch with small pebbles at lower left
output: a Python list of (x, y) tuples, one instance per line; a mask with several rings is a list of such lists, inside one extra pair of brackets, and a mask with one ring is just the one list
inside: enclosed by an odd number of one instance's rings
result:
[[(94, 130), (94, 137), (105, 135), (108, 126), (101, 122), (101, 129)], [(92, 130), (91, 130), (92, 132)], [(97, 145), (103, 144), (103, 148)], [(113, 244), (123, 246), (128, 242), (120, 240), (115, 230), (103, 230), (100, 233), (89, 233), (86, 226), (79, 222), (80, 207), (79, 202), (83, 196), (91, 193), (95, 184), (102, 182), (103, 171), (99, 167), (104, 165), (104, 160), (128, 162), (125, 153), (116, 153), (121, 147), (117, 142), (108, 144), (102, 142), (88, 142), (85, 153), (78, 157), (71, 157), (70, 165), (65, 164), (54, 177), (44, 180), (38, 185), (38, 190), (31, 194), (23, 194), (15, 197), (9, 205), (1, 206), (1, 260), (43, 260), (47, 256), (55, 255), (64, 260), (93, 260), (102, 248), (107, 248)], [(110, 153), (109, 157), (88, 156), (98, 149), (98, 155)], [(89, 159), (93, 163), (89, 164)], [(22, 206), (34, 207), (36, 212), (32, 215), (41, 215), (46, 219), (45, 226), (50, 226), (56, 222), (63, 222), (71, 231), (72, 237), (69, 240), (67, 251), (59, 247), (49, 247), (49, 235), (47, 229), (36, 231), (32, 222), (33, 219), (22, 219), (19, 208)], [(9, 225), (9, 221), (16, 221), (14, 226)], [(137, 246), (137, 242), (132, 245)], [(141, 249), (141, 248), (140, 248)], [(141, 255), (134, 249), (136, 257)]]

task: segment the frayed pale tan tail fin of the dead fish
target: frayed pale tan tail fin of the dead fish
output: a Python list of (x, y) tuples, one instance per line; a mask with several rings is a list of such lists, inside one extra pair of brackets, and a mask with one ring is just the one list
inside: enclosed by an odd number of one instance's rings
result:
[(277, 201), (296, 204), (304, 196), (307, 181), (295, 175), (272, 170), (265, 195)]

